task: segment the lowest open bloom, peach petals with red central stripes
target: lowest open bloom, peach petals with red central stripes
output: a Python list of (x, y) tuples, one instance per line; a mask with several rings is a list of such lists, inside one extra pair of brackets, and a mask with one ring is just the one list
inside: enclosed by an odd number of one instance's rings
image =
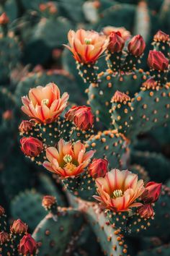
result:
[(145, 190), (143, 179), (138, 180), (137, 174), (113, 169), (104, 178), (97, 178), (96, 184), (99, 196), (94, 198), (99, 200), (102, 208), (117, 212), (142, 205), (135, 202)]

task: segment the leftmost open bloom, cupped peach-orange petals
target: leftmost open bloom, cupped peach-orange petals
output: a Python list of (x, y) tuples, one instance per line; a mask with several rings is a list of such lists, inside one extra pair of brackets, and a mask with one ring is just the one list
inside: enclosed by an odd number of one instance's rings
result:
[(28, 96), (22, 97), (22, 111), (38, 122), (51, 123), (66, 108), (68, 97), (68, 93), (61, 96), (58, 86), (50, 82), (30, 89)]

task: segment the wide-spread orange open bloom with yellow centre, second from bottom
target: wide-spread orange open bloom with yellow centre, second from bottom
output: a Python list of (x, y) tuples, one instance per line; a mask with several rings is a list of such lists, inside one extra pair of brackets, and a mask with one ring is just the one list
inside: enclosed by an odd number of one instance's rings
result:
[(43, 163), (43, 166), (55, 174), (61, 176), (62, 179), (74, 177), (82, 172), (89, 165), (94, 151), (86, 152), (85, 145), (80, 141), (75, 143), (59, 140), (58, 148), (47, 148), (46, 156), (48, 161)]

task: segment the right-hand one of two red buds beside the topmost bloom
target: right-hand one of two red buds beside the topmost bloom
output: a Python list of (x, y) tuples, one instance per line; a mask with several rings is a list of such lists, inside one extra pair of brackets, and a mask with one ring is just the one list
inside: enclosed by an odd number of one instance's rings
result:
[(128, 43), (128, 51), (134, 56), (141, 56), (146, 48), (146, 43), (141, 35), (135, 35)]

